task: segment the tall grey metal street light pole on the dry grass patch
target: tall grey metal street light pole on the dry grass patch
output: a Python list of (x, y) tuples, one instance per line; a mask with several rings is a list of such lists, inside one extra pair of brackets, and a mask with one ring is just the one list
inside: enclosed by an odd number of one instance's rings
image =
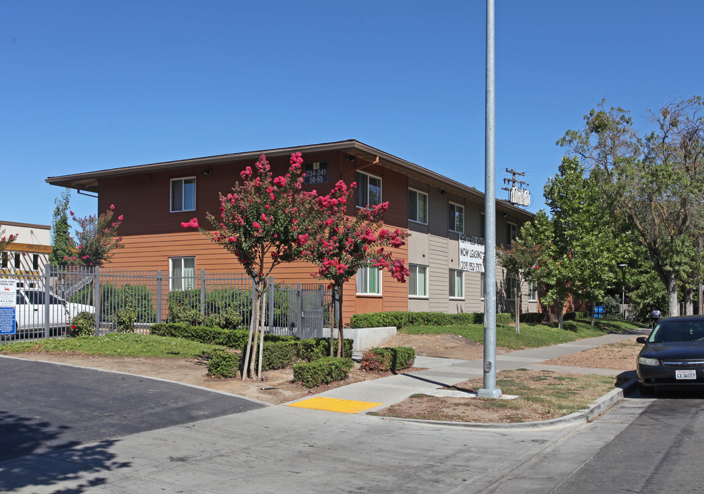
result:
[(496, 104), (494, 101), (494, 0), (486, 0), (486, 110), (484, 137), (484, 387), (483, 398), (499, 398), (496, 388)]

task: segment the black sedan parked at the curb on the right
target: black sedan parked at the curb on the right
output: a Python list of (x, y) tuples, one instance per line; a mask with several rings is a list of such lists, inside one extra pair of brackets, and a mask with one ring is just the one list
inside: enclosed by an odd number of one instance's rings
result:
[(643, 343), (638, 355), (641, 394), (655, 386), (704, 388), (704, 316), (662, 319)]

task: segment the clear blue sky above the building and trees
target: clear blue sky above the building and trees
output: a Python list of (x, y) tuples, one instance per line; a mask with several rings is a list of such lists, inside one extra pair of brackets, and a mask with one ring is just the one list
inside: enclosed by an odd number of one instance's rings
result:
[[(0, 0), (0, 220), (51, 224), (49, 176), (344, 139), (484, 190), (485, 8)], [(698, 0), (496, 0), (498, 198), (513, 168), (543, 207), (555, 141), (601, 99), (644, 128), (703, 94), (703, 18)]]

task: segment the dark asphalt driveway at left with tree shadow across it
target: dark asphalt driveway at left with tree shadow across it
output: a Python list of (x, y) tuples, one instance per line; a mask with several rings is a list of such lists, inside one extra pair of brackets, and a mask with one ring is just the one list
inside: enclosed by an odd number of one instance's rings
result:
[(263, 406), (141, 376), (0, 357), (0, 461)]

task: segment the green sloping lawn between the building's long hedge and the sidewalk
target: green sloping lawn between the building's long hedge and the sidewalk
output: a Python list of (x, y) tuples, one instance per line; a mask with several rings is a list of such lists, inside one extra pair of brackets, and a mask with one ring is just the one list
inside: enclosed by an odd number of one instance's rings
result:
[[(521, 324), (521, 332), (516, 333), (515, 327), (497, 325), (496, 346), (503, 346), (511, 350), (522, 348), (537, 348), (540, 346), (567, 343), (582, 338), (602, 336), (608, 331), (625, 331), (636, 329), (639, 324), (616, 319), (596, 320), (596, 326), (591, 326), (589, 321), (565, 321), (558, 329), (557, 323), (551, 324)], [(456, 334), (470, 341), (482, 343), (484, 341), (484, 326), (482, 324), (463, 324), (455, 326), (410, 326), (399, 329), (398, 332), (406, 334)]]

